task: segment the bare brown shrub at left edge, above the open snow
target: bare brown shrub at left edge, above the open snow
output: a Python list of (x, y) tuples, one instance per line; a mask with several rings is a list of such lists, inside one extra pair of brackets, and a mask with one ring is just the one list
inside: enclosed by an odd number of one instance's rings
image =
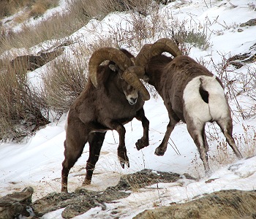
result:
[(18, 141), (48, 123), (45, 102), (29, 86), (22, 66), (12, 69), (8, 65), (1, 69), (0, 101), (1, 139)]

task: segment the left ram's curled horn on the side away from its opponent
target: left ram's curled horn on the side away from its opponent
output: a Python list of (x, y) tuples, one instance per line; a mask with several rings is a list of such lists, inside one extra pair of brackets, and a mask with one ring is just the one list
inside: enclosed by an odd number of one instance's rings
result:
[(103, 47), (96, 50), (89, 60), (89, 77), (95, 87), (98, 85), (97, 68), (105, 60), (115, 62), (122, 71), (132, 66), (132, 61), (121, 50), (113, 47)]

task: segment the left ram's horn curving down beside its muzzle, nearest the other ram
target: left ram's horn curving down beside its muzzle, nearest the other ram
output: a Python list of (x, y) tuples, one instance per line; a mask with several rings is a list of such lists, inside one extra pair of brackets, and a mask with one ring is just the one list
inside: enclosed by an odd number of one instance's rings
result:
[(150, 94), (139, 79), (139, 77), (143, 78), (144, 72), (145, 71), (143, 66), (130, 66), (124, 71), (122, 77), (129, 83), (129, 85), (132, 85), (133, 88), (136, 88), (138, 91), (140, 91), (143, 96), (143, 100), (147, 101), (150, 99)]

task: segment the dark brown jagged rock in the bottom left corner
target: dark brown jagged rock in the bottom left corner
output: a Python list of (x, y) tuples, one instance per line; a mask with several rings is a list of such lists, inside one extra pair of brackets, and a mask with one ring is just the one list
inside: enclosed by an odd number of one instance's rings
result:
[(29, 217), (33, 215), (30, 211), (31, 197), (34, 189), (27, 187), (21, 192), (14, 192), (0, 198), (0, 218), (12, 219), (23, 215)]

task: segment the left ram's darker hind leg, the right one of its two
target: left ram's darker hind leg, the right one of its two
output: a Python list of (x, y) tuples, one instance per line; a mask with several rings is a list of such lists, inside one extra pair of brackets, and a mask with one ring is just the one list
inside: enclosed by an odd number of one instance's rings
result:
[(105, 134), (105, 132), (93, 132), (89, 134), (89, 158), (86, 164), (86, 178), (83, 181), (83, 185), (91, 184), (91, 177), (94, 173), (95, 164), (99, 160), (99, 153), (105, 139)]

